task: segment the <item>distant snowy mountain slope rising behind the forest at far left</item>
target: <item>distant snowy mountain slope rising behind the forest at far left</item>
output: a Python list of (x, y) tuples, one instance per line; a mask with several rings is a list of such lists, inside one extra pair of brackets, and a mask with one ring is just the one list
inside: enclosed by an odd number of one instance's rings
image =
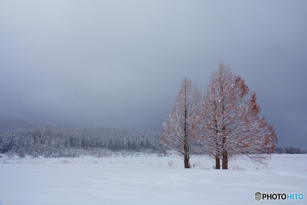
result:
[(0, 134), (19, 128), (33, 128), (47, 123), (6, 112), (0, 112)]

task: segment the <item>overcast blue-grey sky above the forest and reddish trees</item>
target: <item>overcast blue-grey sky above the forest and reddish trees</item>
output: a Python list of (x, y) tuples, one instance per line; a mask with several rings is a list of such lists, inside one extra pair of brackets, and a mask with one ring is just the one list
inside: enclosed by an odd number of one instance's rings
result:
[(219, 61), (307, 148), (307, 1), (0, 1), (0, 112), (161, 132)]

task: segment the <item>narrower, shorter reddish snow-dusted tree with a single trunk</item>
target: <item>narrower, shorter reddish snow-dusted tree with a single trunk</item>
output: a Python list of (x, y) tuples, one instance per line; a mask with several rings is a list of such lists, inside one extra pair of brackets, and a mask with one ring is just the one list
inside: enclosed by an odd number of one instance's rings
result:
[(192, 88), (191, 80), (185, 77), (173, 110), (169, 113), (167, 122), (162, 125), (160, 144), (182, 156), (185, 168), (190, 168), (189, 159), (196, 147), (196, 118), (201, 97), (197, 86)]

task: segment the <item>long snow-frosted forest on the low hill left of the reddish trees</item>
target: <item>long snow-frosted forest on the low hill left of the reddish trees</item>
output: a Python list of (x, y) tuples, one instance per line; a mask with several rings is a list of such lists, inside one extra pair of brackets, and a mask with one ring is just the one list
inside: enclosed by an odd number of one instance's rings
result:
[(15, 152), (20, 156), (67, 156), (70, 149), (113, 152), (145, 150), (161, 151), (160, 133), (115, 128), (76, 128), (65, 124), (17, 129), (0, 135), (0, 152)]

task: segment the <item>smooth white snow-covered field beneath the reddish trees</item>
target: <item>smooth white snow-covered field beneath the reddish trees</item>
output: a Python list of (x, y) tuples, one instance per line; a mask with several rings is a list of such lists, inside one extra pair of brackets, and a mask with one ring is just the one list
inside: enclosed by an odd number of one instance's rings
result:
[[(307, 155), (272, 155), (268, 166), (243, 159), (229, 170), (193, 156), (36, 158), (0, 161), (0, 204), (306, 204)], [(210, 169), (211, 168), (211, 169)], [(255, 192), (302, 193), (303, 200), (255, 201)]]

